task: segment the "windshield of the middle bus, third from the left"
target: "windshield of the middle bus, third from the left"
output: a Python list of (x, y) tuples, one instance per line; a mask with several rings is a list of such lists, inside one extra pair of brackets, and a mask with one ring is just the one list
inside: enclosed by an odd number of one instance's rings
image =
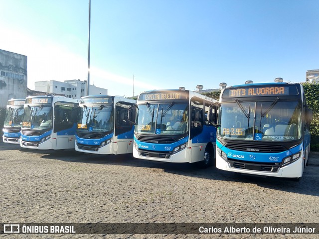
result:
[(113, 107), (101, 105), (99, 107), (84, 106), (81, 111), (79, 122), (81, 129), (89, 132), (107, 132), (114, 129)]

